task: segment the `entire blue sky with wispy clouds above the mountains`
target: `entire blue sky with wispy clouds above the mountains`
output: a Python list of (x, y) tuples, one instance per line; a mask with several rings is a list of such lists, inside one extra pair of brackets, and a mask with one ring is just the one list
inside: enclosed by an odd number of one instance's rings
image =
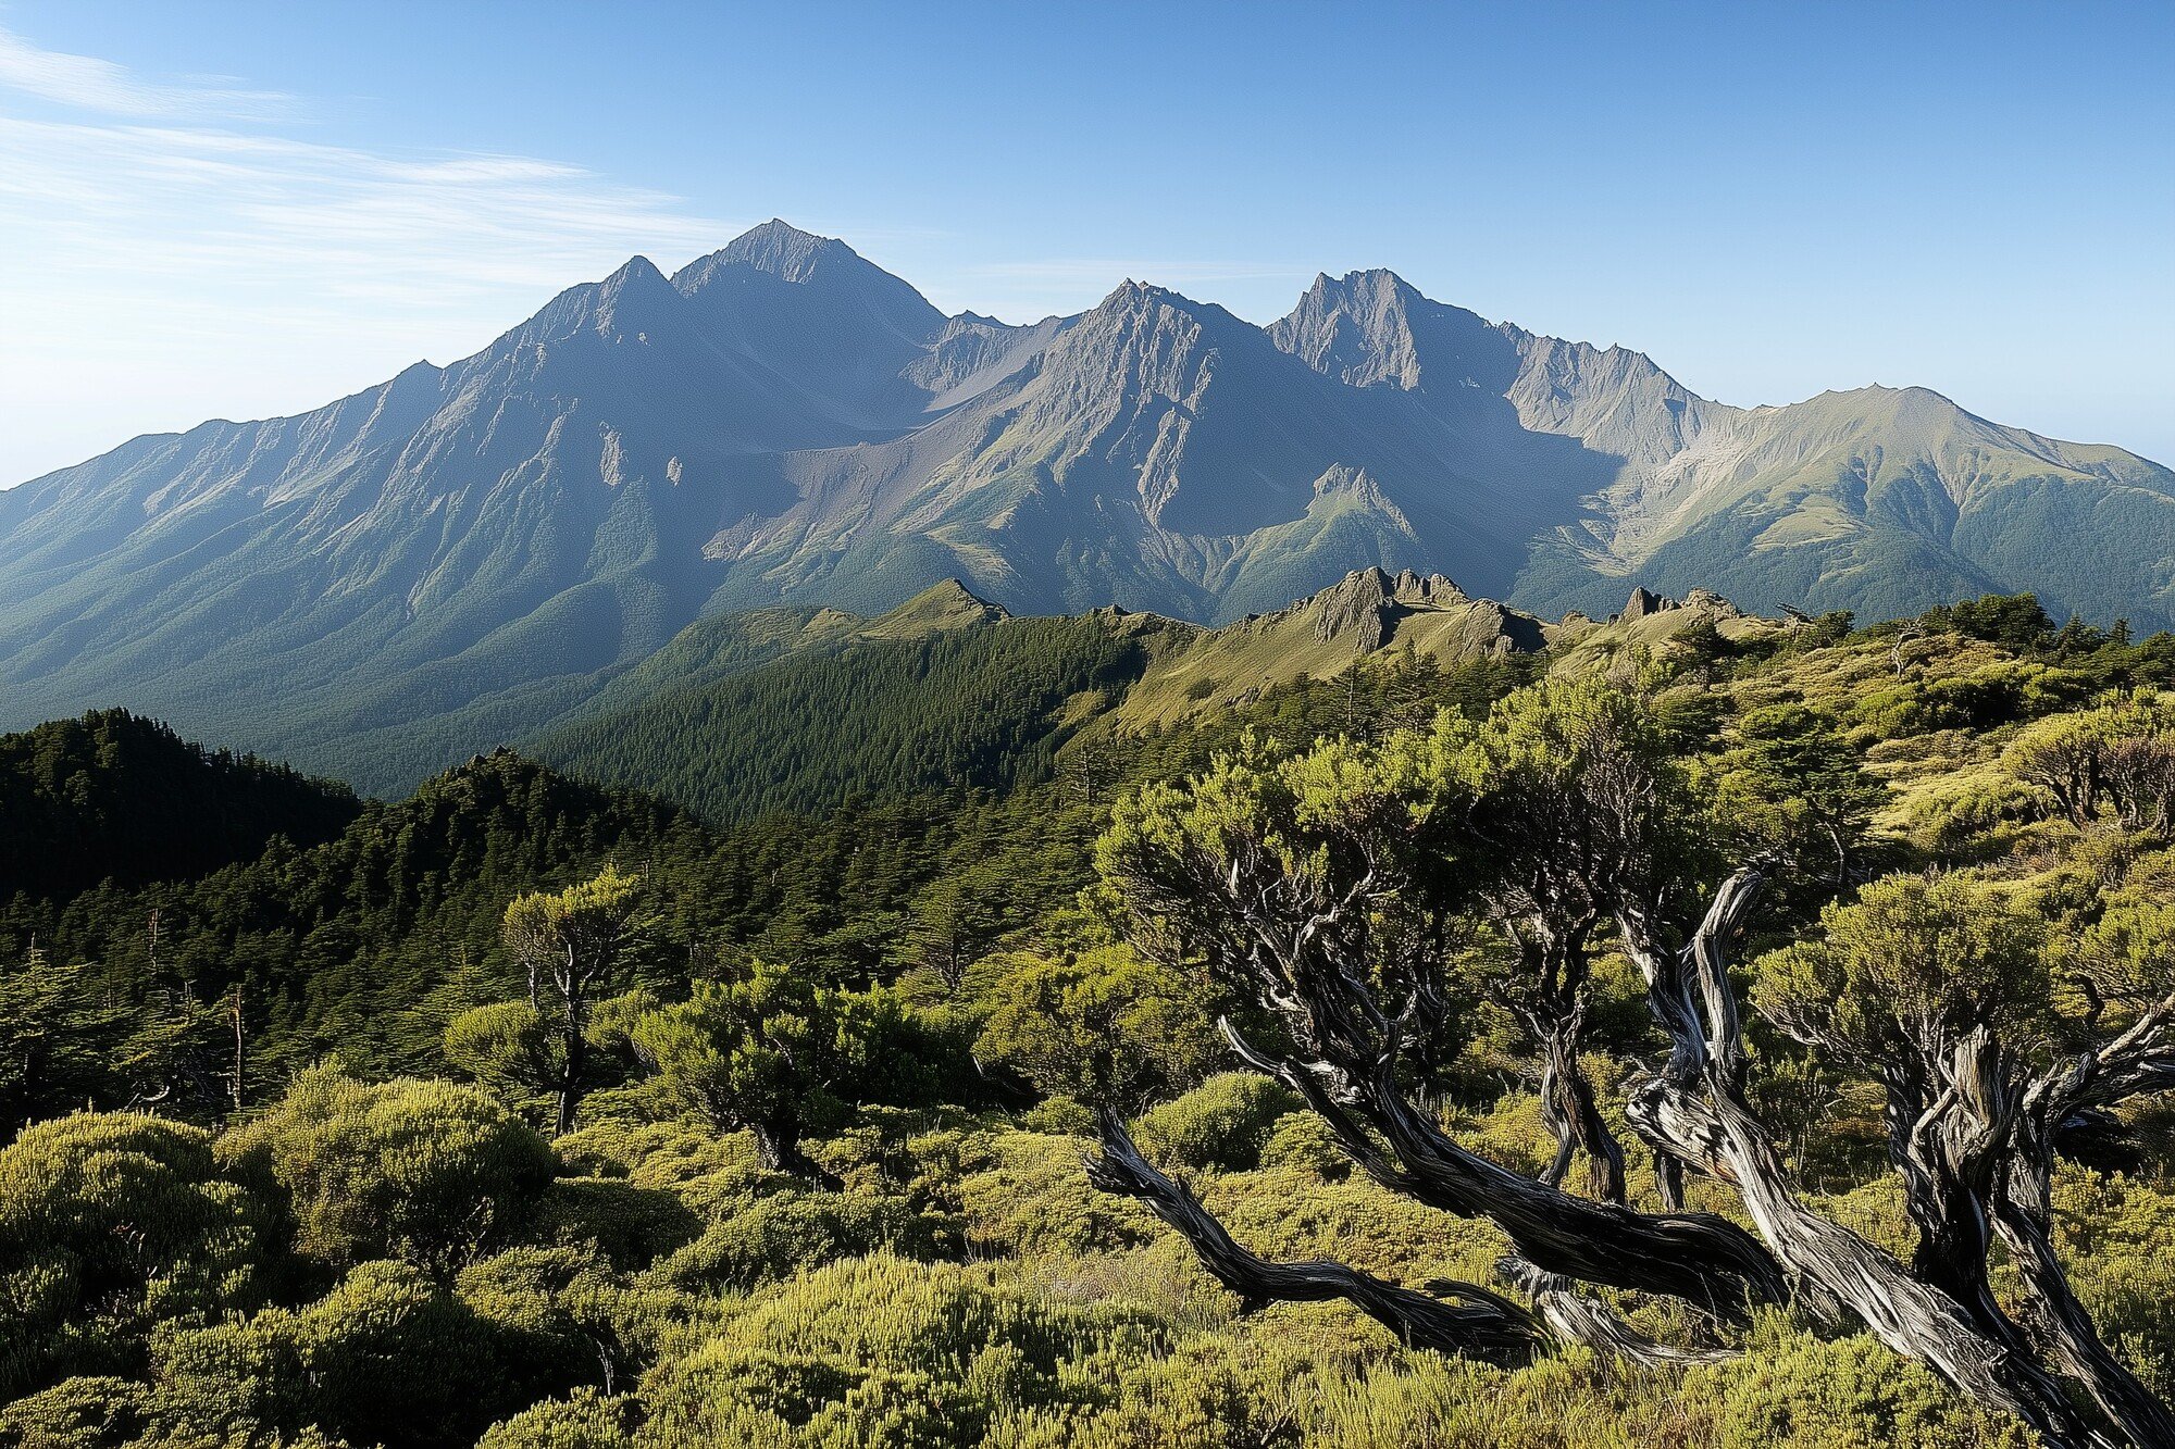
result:
[(0, 483), (783, 215), (946, 309), (1318, 270), (2175, 463), (2171, 4), (0, 0)]

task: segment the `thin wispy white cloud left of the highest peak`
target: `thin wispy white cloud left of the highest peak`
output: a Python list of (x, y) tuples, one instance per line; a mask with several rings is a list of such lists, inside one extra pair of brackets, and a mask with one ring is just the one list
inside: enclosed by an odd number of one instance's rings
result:
[(744, 226), (542, 157), (300, 139), (294, 115), (0, 30), (0, 487), (452, 361), (635, 252), (672, 265)]

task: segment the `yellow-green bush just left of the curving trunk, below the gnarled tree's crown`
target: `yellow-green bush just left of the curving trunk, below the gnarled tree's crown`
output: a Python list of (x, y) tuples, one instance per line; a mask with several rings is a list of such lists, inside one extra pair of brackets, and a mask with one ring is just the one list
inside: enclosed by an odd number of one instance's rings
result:
[(974, 1053), (1042, 1092), (1138, 1112), (1225, 1055), (1201, 988), (1127, 946), (1014, 953), (998, 968)]

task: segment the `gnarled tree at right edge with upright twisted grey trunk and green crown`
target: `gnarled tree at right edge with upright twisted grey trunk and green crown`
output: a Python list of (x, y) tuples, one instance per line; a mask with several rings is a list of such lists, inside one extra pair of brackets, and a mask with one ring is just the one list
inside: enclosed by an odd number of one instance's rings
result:
[[(2044, 922), (1968, 881), (1890, 879), (1831, 907), (1823, 938), (1764, 966), (1762, 1010), (1886, 1092), (1888, 1155), (1918, 1229), (1914, 1277), (1992, 1342), (2079, 1384), (2129, 1440), (2175, 1416), (2101, 1342), (2055, 1258), (2062, 1134), (2175, 1073), (2175, 912), (2123, 905), (2053, 953)], [(2051, 1010), (2055, 975), (2088, 1001)], [(1992, 1240), (2018, 1268), (2021, 1321), (1994, 1299)]]

